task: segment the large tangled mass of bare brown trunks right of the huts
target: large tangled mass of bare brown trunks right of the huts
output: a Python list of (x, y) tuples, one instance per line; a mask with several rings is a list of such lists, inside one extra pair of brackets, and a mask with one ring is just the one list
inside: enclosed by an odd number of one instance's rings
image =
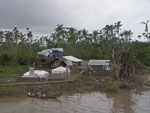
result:
[(131, 60), (131, 47), (122, 51), (112, 49), (112, 68), (118, 81), (129, 81), (135, 74), (134, 63)]

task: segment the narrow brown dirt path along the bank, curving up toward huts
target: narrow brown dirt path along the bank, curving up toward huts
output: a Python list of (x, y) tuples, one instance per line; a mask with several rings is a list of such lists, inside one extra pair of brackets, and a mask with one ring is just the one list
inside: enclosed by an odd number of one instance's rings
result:
[(81, 71), (79, 74), (73, 75), (71, 78), (68, 78), (67, 80), (59, 80), (59, 81), (50, 81), (50, 82), (20, 82), (20, 83), (5, 83), (5, 84), (0, 84), (0, 86), (19, 86), (19, 85), (40, 85), (40, 84), (58, 84), (58, 83), (65, 83), (65, 82), (73, 82), (77, 77), (81, 76), (82, 73), (84, 72)]

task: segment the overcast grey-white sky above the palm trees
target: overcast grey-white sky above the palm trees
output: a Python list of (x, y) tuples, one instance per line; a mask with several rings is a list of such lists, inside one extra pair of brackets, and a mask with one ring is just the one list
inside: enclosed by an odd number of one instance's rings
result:
[(150, 19), (150, 0), (0, 0), (0, 30), (29, 27), (47, 35), (57, 24), (89, 31), (122, 21), (134, 39)]

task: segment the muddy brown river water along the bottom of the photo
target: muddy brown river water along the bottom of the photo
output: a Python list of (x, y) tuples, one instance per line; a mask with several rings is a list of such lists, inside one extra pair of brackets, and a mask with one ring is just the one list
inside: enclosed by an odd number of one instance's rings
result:
[(58, 99), (0, 98), (0, 113), (150, 113), (150, 91), (65, 94)]

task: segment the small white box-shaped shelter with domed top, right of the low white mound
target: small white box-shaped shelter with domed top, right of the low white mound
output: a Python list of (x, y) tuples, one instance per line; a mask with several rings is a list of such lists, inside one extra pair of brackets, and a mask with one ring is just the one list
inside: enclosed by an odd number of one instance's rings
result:
[(52, 69), (53, 78), (69, 78), (71, 77), (71, 70), (65, 67), (58, 67)]

